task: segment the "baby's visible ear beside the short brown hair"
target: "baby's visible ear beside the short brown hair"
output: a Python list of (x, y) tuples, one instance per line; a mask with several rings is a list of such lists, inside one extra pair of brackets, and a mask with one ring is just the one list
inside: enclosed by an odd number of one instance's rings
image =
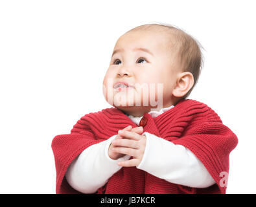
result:
[(193, 74), (191, 72), (181, 72), (178, 75), (176, 86), (174, 87), (172, 94), (176, 97), (183, 97), (189, 92), (193, 85)]

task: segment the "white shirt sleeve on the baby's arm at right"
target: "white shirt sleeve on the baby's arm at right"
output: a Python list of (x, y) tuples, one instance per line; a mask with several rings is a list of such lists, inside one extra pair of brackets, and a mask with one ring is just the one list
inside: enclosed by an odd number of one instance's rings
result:
[(146, 148), (138, 169), (175, 184), (207, 188), (215, 184), (204, 164), (186, 147), (148, 132)]

